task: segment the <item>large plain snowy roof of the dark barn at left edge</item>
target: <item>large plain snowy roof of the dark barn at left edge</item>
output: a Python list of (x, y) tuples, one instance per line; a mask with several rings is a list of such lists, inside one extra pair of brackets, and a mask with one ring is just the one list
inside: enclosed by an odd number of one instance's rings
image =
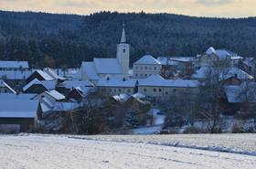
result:
[(35, 118), (38, 100), (1, 100), (0, 117)]

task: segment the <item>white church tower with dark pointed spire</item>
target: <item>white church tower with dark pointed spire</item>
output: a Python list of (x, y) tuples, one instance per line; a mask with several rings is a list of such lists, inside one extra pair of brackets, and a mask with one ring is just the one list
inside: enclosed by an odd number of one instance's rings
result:
[(129, 79), (129, 61), (130, 61), (130, 45), (126, 44), (126, 36), (123, 24), (123, 33), (120, 44), (117, 45), (116, 58), (121, 64), (123, 75), (126, 79)]

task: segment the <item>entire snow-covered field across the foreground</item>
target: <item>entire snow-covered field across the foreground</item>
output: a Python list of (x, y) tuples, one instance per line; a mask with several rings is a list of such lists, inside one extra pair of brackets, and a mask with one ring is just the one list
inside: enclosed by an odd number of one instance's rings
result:
[(0, 150), (0, 168), (256, 166), (256, 134), (16, 134), (0, 135)]

